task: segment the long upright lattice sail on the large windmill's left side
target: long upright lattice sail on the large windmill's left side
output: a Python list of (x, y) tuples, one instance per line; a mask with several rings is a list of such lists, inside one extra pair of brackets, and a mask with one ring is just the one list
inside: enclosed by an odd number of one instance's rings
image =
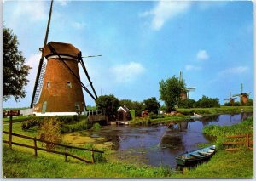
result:
[[(48, 39), (48, 34), (49, 34), (49, 25), (50, 25), (50, 19), (51, 19), (52, 5), (53, 5), (53, 0), (51, 0), (50, 8), (49, 8), (49, 19), (48, 19), (46, 34), (44, 37), (44, 47), (47, 44), (47, 39)], [(39, 97), (41, 89), (42, 89), (42, 85), (44, 82), (45, 64), (46, 63), (44, 62), (44, 55), (43, 55), (43, 50), (42, 50), (41, 59), (40, 59), (39, 65), (38, 65), (38, 73), (36, 76), (36, 82), (35, 82), (33, 93), (32, 93), (32, 101), (31, 101), (31, 105), (30, 105), (31, 108), (37, 103), (38, 97)]]

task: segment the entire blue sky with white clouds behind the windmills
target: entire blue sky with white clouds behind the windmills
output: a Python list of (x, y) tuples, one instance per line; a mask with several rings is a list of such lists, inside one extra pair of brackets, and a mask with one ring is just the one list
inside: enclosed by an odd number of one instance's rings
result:
[[(50, 1), (5, 1), (3, 21), (13, 29), (32, 66), (26, 98), (3, 107), (29, 106)], [(98, 95), (143, 101), (160, 98), (159, 82), (183, 71), (190, 99), (240, 93), (253, 98), (253, 3), (249, 1), (55, 1), (49, 41), (69, 42), (84, 56)], [(85, 85), (89, 84), (82, 73)], [(87, 105), (93, 99), (84, 93)]]

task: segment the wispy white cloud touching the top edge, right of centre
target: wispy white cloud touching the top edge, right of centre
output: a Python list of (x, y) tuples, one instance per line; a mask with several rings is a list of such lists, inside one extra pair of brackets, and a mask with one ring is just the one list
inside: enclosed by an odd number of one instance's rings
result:
[(141, 17), (153, 16), (151, 26), (153, 30), (160, 30), (165, 24), (166, 20), (170, 20), (178, 14), (183, 14), (190, 8), (190, 2), (172, 2), (172, 1), (160, 1), (156, 6), (140, 14)]

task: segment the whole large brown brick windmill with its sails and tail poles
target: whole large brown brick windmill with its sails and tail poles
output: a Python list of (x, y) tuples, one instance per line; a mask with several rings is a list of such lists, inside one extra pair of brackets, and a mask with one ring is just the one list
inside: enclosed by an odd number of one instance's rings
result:
[[(74, 115), (86, 109), (84, 90), (96, 100), (96, 91), (85, 68), (82, 53), (72, 44), (47, 43), (53, 0), (49, 9), (49, 20), (44, 38), (44, 48), (38, 65), (31, 108), (36, 115)], [(46, 60), (44, 60), (44, 58)], [(79, 63), (90, 82), (93, 93), (84, 86), (79, 76)]]

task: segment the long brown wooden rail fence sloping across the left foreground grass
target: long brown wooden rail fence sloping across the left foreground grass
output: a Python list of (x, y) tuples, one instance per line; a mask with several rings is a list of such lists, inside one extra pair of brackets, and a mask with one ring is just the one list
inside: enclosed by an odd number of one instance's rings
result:
[[(4, 134), (9, 134), (9, 132), (6, 132), (6, 131), (3, 131), (3, 133)], [(79, 147), (70, 146), (70, 145), (57, 144), (57, 143), (45, 141), (43, 139), (32, 138), (32, 137), (21, 135), (21, 134), (17, 134), (17, 133), (12, 133), (11, 135), (12, 136), (16, 136), (16, 137), (20, 137), (22, 139), (31, 139), (34, 142), (34, 145), (32, 146), (32, 145), (27, 145), (27, 144), (20, 144), (20, 143), (15, 143), (15, 142), (6, 141), (6, 140), (3, 140), (3, 143), (9, 144), (10, 148), (11, 148), (12, 144), (18, 145), (18, 146), (23, 146), (23, 147), (26, 147), (26, 148), (31, 148), (31, 149), (33, 149), (35, 151), (35, 156), (38, 156), (38, 150), (44, 150), (44, 151), (47, 151), (47, 152), (51, 152), (51, 153), (55, 153), (55, 154), (59, 154), (59, 155), (65, 156), (65, 161), (67, 161), (67, 156), (70, 156), (70, 157), (73, 157), (73, 158), (75, 158), (75, 159), (77, 159), (79, 161), (84, 161), (86, 163), (95, 163), (94, 152), (104, 153), (104, 151), (101, 151), (101, 150), (85, 149), (85, 148), (79, 148)], [(48, 149), (44, 149), (44, 148), (38, 147), (37, 146), (37, 142), (43, 142), (45, 144), (55, 144), (57, 146), (64, 147), (65, 148), (65, 152), (61, 152), (61, 151), (57, 151), (57, 150), (48, 150)], [(76, 150), (90, 151), (91, 152), (91, 161), (87, 161), (84, 158), (80, 158), (79, 156), (73, 156), (72, 154), (68, 153), (68, 151), (67, 151), (68, 148), (69, 149), (76, 149)]]

